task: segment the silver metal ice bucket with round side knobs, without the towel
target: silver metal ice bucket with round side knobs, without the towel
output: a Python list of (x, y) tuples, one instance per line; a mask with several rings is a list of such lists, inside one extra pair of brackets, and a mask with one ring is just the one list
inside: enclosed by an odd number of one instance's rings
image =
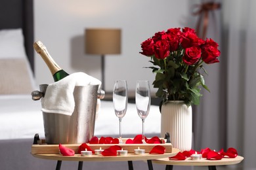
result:
[[(47, 84), (39, 85), (42, 95), (47, 90), (47, 86)], [(103, 97), (104, 91), (98, 90), (98, 85), (75, 86), (75, 109), (72, 116), (43, 112), (46, 143), (87, 143), (95, 131), (97, 98)]]

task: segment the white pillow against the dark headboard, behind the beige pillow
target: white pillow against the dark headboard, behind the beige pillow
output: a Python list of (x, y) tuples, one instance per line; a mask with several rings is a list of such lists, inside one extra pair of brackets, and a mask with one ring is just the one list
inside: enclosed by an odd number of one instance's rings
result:
[(0, 59), (26, 58), (22, 29), (0, 30)]

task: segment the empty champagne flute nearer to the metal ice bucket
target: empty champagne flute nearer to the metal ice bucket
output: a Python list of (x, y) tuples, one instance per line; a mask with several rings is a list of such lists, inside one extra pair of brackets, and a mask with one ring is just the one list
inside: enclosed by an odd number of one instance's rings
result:
[(119, 143), (123, 143), (121, 137), (121, 120), (125, 116), (127, 110), (127, 82), (126, 80), (116, 80), (113, 90), (114, 110), (117, 118), (119, 118)]

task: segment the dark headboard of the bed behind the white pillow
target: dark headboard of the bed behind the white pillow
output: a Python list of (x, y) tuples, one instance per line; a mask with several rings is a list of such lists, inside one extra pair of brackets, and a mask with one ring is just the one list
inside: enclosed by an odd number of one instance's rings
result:
[(33, 58), (33, 0), (1, 0), (0, 29), (22, 28), (24, 45), (34, 72)]

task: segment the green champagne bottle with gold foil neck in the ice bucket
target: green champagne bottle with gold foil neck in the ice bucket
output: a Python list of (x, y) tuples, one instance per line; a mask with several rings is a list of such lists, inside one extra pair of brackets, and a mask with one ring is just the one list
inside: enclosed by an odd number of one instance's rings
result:
[(53, 75), (54, 82), (61, 80), (65, 76), (68, 76), (68, 73), (66, 73), (63, 69), (60, 68), (60, 66), (56, 64), (56, 62), (53, 60), (53, 58), (50, 56), (49, 52), (47, 51), (47, 48), (45, 47), (45, 45), (43, 45), (41, 41), (34, 42), (33, 48), (38, 54), (40, 54), (40, 56), (43, 58), (43, 60), (49, 67)]

